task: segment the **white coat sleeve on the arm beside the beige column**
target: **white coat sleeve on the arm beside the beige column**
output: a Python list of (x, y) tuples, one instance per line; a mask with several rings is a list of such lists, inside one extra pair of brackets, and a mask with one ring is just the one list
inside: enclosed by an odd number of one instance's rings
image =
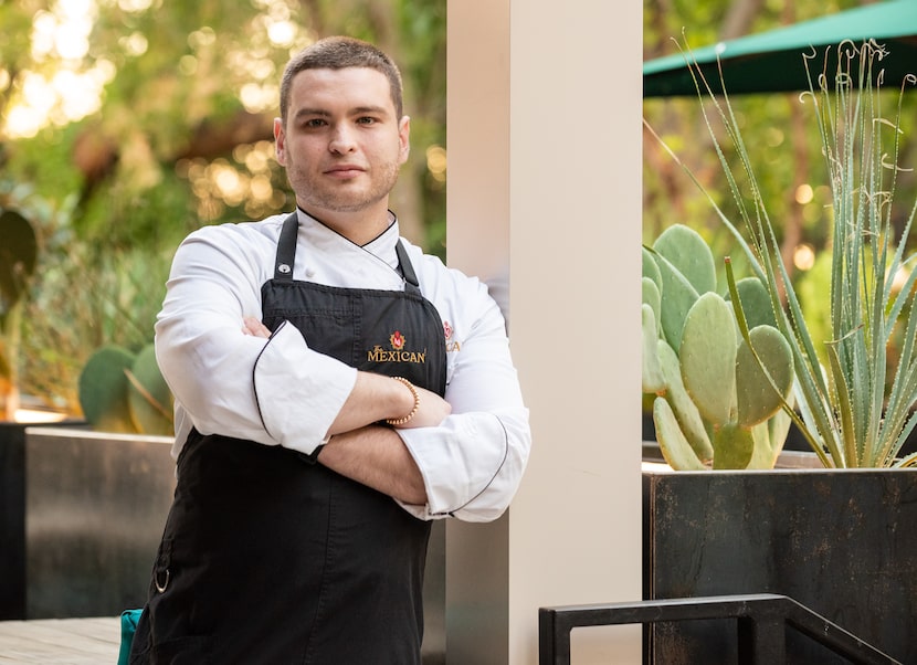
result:
[(528, 410), (509, 353), (503, 316), (488, 306), (456, 353), (446, 387), (450, 415), (436, 428), (399, 430), (420, 467), (425, 506), (402, 504), (421, 519), (491, 521), (509, 506), (528, 462)]

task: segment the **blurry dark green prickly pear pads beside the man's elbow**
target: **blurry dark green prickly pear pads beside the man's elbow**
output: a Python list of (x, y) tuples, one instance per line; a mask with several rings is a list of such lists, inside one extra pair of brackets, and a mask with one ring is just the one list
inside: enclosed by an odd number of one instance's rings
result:
[(172, 434), (172, 395), (152, 345), (139, 353), (115, 346), (93, 353), (80, 374), (80, 405), (97, 431)]

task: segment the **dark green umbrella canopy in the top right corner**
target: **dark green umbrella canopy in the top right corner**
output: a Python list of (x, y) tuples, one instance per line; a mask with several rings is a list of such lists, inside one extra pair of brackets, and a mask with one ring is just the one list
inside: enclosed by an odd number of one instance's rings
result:
[(917, 73), (917, 0), (867, 4), (645, 62), (643, 96), (696, 94), (686, 57), (697, 61), (710, 87), (719, 92), (717, 55), (730, 95), (809, 89), (803, 54), (816, 54), (809, 65), (815, 76), (825, 66), (825, 57), (833, 70), (837, 45), (847, 40), (857, 46), (864, 40), (884, 44), (888, 51), (879, 63), (884, 83), (899, 85), (904, 76)]

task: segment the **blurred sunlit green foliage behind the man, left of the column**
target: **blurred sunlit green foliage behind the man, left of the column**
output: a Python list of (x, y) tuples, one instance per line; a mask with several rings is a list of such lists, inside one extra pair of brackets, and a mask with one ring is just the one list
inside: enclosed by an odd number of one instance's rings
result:
[(320, 36), (368, 39), (401, 65), (412, 156), (392, 208), (443, 255), (445, 12), (445, 0), (0, 2), (0, 199), (36, 222), (41, 249), (22, 392), (78, 412), (95, 349), (152, 339), (188, 232), (293, 208), (272, 122), (284, 64)]

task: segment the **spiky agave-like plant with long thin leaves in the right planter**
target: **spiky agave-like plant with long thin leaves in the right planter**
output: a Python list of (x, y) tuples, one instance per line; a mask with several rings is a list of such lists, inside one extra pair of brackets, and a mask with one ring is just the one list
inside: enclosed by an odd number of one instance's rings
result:
[[(892, 222), (904, 86), (893, 116), (886, 117), (879, 63), (888, 53), (874, 41), (860, 46), (846, 42), (837, 49), (836, 70), (822, 71), (814, 80), (810, 63), (815, 53), (803, 56), (809, 92), (802, 96), (814, 110), (832, 193), (831, 339), (813, 339), (810, 334), (728, 95), (715, 96), (696, 63), (688, 62), (702, 102), (704, 97), (713, 102), (715, 110), (704, 108), (704, 117), (750, 243), (713, 197), (707, 193), (707, 198), (767, 286), (777, 327), (792, 348), (797, 376), (799, 412), (786, 401), (783, 408), (822, 463), (913, 466), (917, 454), (902, 458), (899, 453), (917, 424), (917, 272), (913, 270), (917, 255), (905, 253), (917, 205), (907, 211), (899, 235)], [(911, 77), (904, 85), (914, 83)], [(735, 145), (745, 189), (717, 140), (717, 119)], [(896, 277), (908, 271), (904, 286), (897, 287)], [(735, 291), (731, 275), (728, 281)], [(749, 341), (740, 305), (736, 313)], [(889, 367), (893, 334), (900, 351), (895, 367)], [(825, 363), (820, 361), (820, 345)]]

